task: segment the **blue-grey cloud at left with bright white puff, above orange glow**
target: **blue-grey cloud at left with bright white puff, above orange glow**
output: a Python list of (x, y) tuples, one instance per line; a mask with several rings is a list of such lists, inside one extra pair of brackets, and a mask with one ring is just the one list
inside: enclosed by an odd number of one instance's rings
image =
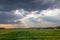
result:
[(0, 24), (17, 24), (19, 19), (25, 17), (29, 12), (20, 10), (0, 11)]

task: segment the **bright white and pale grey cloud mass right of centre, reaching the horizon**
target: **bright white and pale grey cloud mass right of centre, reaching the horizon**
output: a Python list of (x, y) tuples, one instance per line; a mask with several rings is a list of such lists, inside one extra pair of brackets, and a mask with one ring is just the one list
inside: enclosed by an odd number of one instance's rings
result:
[(30, 27), (58, 26), (60, 23), (60, 9), (47, 9), (42, 11), (31, 11), (20, 21), (24, 21)]

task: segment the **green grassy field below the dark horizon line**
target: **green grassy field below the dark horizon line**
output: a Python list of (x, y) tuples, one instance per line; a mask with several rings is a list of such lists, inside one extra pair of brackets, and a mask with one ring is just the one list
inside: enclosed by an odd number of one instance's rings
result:
[(1, 29), (0, 40), (60, 40), (60, 29)]

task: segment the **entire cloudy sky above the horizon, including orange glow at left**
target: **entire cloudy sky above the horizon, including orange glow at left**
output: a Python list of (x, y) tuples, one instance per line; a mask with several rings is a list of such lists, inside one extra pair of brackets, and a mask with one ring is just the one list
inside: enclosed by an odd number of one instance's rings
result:
[(60, 26), (60, 0), (0, 0), (0, 27)]

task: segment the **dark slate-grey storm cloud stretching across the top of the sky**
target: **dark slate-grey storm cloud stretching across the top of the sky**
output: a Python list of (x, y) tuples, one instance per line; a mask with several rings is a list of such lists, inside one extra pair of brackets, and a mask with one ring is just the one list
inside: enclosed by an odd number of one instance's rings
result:
[(59, 4), (60, 0), (0, 0), (0, 10), (14, 9), (41, 10)]

